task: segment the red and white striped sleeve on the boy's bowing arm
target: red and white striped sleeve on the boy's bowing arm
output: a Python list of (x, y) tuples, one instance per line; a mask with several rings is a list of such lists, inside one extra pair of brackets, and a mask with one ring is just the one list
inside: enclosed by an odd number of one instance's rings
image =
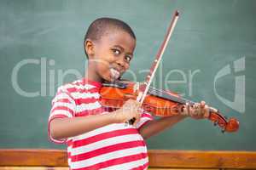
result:
[(73, 117), (75, 113), (75, 101), (72, 96), (63, 88), (58, 88), (55, 98), (52, 99), (52, 107), (48, 120), (48, 136), (49, 139), (57, 144), (63, 144), (67, 139), (53, 139), (49, 127), (50, 122), (55, 118)]

